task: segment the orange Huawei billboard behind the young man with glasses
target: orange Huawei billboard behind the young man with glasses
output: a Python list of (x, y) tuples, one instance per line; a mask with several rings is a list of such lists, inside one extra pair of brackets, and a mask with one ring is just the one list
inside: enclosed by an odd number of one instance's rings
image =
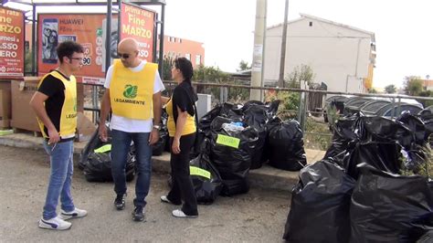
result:
[[(114, 19), (116, 18), (116, 19)], [(83, 67), (76, 74), (84, 83), (103, 84), (105, 78), (106, 15), (104, 14), (39, 14), (37, 17), (37, 67), (44, 75), (58, 67), (56, 48), (73, 40), (84, 48)], [(117, 16), (113, 16), (112, 45), (117, 48)], [(114, 31), (113, 31), (114, 30)], [(114, 35), (114, 36), (113, 36)], [(111, 55), (116, 53), (111, 50)]]

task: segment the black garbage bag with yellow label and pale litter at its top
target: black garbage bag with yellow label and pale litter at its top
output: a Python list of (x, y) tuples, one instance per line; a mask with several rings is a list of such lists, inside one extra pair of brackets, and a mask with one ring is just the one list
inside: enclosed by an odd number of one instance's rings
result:
[(223, 180), (221, 195), (237, 195), (249, 190), (248, 172), (251, 154), (256, 149), (259, 135), (252, 127), (233, 128), (234, 120), (216, 117), (212, 122), (210, 160)]

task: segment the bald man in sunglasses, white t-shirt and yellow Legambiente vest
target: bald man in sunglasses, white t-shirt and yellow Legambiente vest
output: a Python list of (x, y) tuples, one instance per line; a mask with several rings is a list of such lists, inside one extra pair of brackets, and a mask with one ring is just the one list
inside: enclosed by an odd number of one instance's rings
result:
[(164, 90), (164, 84), (158, 66), (138, 57), (135, 39), (122, 39), (117, 50), (120, 59), (114, 59), (107, 71), (106, 90), (100, 104), (100, 140), (106, 142), (108, 139), (105, 121), (111, 110), (111, 173), (116, 193), (114, 206), (118, 210), (125, 208), (125, 167), (133, 142), (137, 156), (137, 180), (132, 219), (143, 221), (145, 197), (151, 183), (151, 145), (159, 139), (161, 91)]

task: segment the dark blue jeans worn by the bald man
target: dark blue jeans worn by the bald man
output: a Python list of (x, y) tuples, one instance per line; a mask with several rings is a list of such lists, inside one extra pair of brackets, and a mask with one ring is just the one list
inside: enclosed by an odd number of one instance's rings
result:
[(121, 132), (112, 130), (111, 174), (116, 195), (126, 193), (126, 160), (133, 141), (136, 152), (136, 172), (134, 206), (146, 206), (144, 200), (149, 193), (152, 173), (152, 147), (149, 145), (150, 132)]

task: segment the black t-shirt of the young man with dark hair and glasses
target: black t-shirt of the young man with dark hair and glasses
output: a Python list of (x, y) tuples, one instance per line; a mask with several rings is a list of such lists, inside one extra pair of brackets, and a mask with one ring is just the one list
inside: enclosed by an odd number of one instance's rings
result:
[[(58, 72), (65, 79), (69, 80), (68, 77)], [(63, 103), (65, 102), (65, 85), (60, 79), (55, 78), (52, 75), (48, 75), (42, 80), (37, 91), (48, 96), (45, 100), (45, 110), (47, 111), (49, 120), (53, 122), (57, 131), (60, 131), (60, 116)], [(48, 135), (48, 129), (44, 126), (44, 132)]]

